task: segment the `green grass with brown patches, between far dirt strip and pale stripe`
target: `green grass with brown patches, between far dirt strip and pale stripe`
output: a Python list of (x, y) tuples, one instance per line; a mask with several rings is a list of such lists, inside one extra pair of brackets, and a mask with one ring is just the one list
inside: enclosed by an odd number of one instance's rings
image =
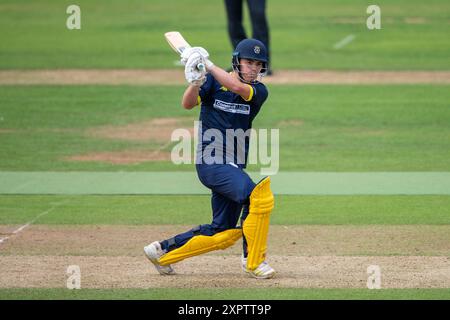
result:
[[(280, 129), (284, 171), (449, 171), (448, 88), (271, 85), (254, 127)], [(180, 106), (183, 90), (181, 86), (0, 86), (0, 128), (10, 130), (0, 133), (0, 170), (193, 170), (193, 165), (169, 161), (113, 165), (62, 159), (90, 152), (155, 149), (155, 142), (93, 138), (84, 130), (157, 117), (197, 119), (199, 108), (186, 111)], [(173, 145), (164, 150), (170, 152)]]

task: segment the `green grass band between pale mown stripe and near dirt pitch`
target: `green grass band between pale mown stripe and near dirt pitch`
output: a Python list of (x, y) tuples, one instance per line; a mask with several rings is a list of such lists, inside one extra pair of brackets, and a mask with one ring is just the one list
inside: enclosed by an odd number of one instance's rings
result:
[[(0, 224), (203, 224), (209, 196), (0, 195)], [(445, 225), (449, 196), (277, 196), (279, 225)]]

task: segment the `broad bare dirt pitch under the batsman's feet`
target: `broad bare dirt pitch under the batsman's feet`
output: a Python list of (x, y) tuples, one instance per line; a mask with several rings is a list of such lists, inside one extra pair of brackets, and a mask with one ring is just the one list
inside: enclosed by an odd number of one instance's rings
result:
[(268, 261), (277, 276), (259, 281), (240, 266), (241, 242), (175, 265), (160, 276), (142, 252), (150, 241), (192, 226), (0, 226), (0, 288), (64, 288), (70, 265), (83, 288), (366, 288), (367, 268), (383, 288), (450, 287), (450, 226), (272, 226)]

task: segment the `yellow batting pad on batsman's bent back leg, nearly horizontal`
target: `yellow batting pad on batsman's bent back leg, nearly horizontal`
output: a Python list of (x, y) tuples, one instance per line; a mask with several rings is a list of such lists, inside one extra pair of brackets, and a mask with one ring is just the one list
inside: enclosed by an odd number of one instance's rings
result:
[(172, 250), (159, 258), (159, 264), (166, 266), (209, 251), (226, 249), (231, 247), (241, 236), (241, 229), (228, 229), (213, 236), (194, 236), (182, 247)]

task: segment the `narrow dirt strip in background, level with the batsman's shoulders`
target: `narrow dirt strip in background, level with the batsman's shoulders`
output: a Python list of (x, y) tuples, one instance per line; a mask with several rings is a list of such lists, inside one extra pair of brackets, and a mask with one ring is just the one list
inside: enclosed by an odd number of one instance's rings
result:
[[(448, 84), (450, 71), (301, 71), (279, 70), (265, 77), (268, 84)], [(63, 69), (4, 70), (0, 85), (184, 85), (183, 70)]]

